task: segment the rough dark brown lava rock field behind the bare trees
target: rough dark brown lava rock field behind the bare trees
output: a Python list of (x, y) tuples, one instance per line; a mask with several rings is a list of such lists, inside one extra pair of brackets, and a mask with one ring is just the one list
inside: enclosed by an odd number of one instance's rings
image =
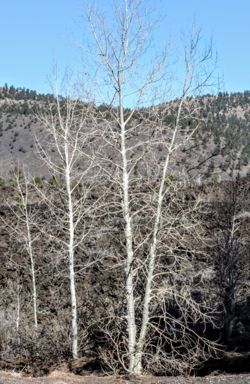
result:
[[(226, 339), (223, 331), (223, 306), (222, 298), (225, 294), (223, 281), (220, 280), (218, 265), (219, 253), (216, 247), (212, 247), (213, 233), (218, 225), (221, 225), (225, 217), (221, 215), (221, 207), (226, 207), (226, 201), (230, 196), (232, 182), (210, 183), (200, 186), (190, 186), (186, 189), (186, 199), (193, 199), (195, 194), (200, 194), (206, 201), (207, 211), (202, 217), (202, 225), (206, 233), (206, 257), (194, 261), (194, 269), (201, 268), (204, 273), (197, 274), (193, 281), (194, 291), (197, 297), (202, 295), (207, 305), (217, 306), (217, 328), (206, 327), (207, 337), (220, 340), (223, 352), (218, 353), (217, 359), (205, 362), (198, 375), (241, 373), (249, 371), (250, 360), (250, 294), (249, 294), (249, 227), (250, 219), (250, 178), (243, 178), (238, 183), (237, 189), (237, 215), (243, 217), (237, 241), (241, 248), (246, 250), (241, 253), (240, 260), (235, 259), (233, 269), (238, 273), (245, 268), (243, 275), (239, 275), (239, 286), (236, 295), (235, 322), (230, 339)], [(195, 191), (195, 194), (194, 194)], [(32, 282), (27, 254), (23, 251), (22, 242), (15, 241), (8, 231), (5, 222), (10, 220), (17, 224), (17, 219), (6, 202), (15, 207), (15, 193), (11, 186), (1, 188), (0, 215), (2, 218), (0, 231), (0, 297), (1, 297), (1, 367), (2, 369), (16, 369), (29, 374), (44, 372), (48, 367), (60, 369), (63, 361), (66, 361), (67, 370), (75, 374), (100, 374), (100, 360), (98, 348), (100, 346), (100, 331), (98, 322), (101, 316), (107, 315), (107, 308), (112, 303), (121, 300), (123, 292), (120, 290), (119, 276), (113, 269), (114, 260), (106, 260), (105, 263), (94, 263), (88, 268), (88, 273), (79, 273), (76, 279), (78, 316), (79, 316), (79, 361), (70, 363), (70, 295), (67, 276), (67, 263), (60, 258), (60, 234), (57, 244), (48, 243), (45, 235), (36, 241), (36, 281), (37, 281), (37, 307), (39, 327), (39, 352), (33, 343), (32, 326)], [(96, 190), (98, 194), (98, 190)], [(34, 191), (30, 198), (32, 209), (37, 212), (39, 226), (49, 220), (47, 207), (39, 204), (39, 196)], [(105, 225), (102, 218), (100, 225)], [(35, 228), (33, 229), (36, 230)], [(112, 233), (106, 233), (101, 243), (112, 244), (117, 251), (122, 252), (120, 241), (120, 223), (117, 222)], [(240, 240), (240, 241), (239, 241)], [(237, 244), (238, 244), (237, 243)], [(84, 251), (79, 250), (75, 254), (76, 265), (83, 265), (87, 260), (98, 258), (100, 252), (99, 242), (96, 239), (89, 240)], [(220, 286), (222, 285), (222, 286)], [(19, 293), (18, 293), (19, 292)], [(17, 322), (17, 297), (19, 301), (19, 334), (16, 338), (15, 326)], [(198, 300), (198, 299), (197, 299)], [(68, 362), (67, 362), (68, 361)], [(47, 368), (46, 368), (47, 367)], [(47, 371), (46, 371), (47, 372)], [(197, 373), (195, 370), (193, 373)], [(248, 376), (238, 376), (239, 378)], [(104, 379), (103, 379), (104, 380)], [(106, 380), (106, 379), (105, 379)], [(113, 379), (112, 379), (113, 380)], [(169, 380), (169, 381), (168, 381)], [(161, 382), (172, 382), (171, 379)], [(173, 380), (177, 380), (173, 379)], [(180, 378), (185, 382), (186, 379)], [(189, 379), (191, 380), (191, 379)], [(201, 380), (201, 379), (199, 379)], [(202, 379), (203, 380), (203, 379)], [(207, 380), (207, 378), (206, 378)], [(211, 382), (233, 381), (232, 377), (210, 377)], [(223, 381), (218, 381), (223, 380)], [(139, 380), (140, 381), (140, 380)], [(154, 380), (153, 380), (154, 381)], [(5, 382), (5, 381), (4, 381)], [(63, 380), (63, 382), (67, 382)], [(73, 382), (73, 381), (71, 381)], [(159, 380), (157, 379), (157, 382)], [(196, 382), (196, 381), (189, 381)], [(198, 381), (197, 381), (198, 382)], [(203, 381), (199, 381), (203, 382)], [(206, 381), (207, 382), (207, 381)], [(239, 381), (248, 382), (248, 381)]]

